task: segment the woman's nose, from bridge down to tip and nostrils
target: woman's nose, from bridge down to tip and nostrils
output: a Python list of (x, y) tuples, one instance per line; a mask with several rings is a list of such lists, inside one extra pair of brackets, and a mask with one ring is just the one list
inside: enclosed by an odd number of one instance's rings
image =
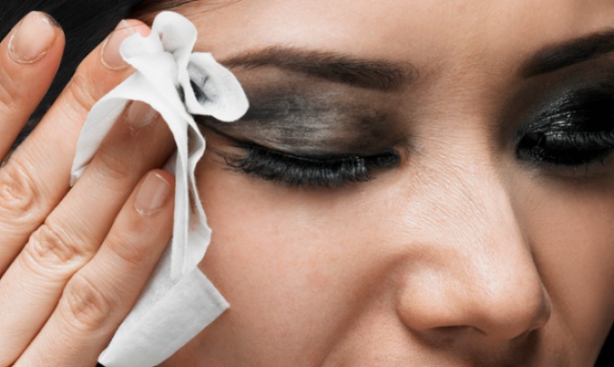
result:
[(423, 225), (408, 239), (421, 254), (401, 271), (397, 312), (418, 333), (511, 340), (548, 322), (550, 300), (506, 189), (485, 170), (464, 173), (421, 195)]

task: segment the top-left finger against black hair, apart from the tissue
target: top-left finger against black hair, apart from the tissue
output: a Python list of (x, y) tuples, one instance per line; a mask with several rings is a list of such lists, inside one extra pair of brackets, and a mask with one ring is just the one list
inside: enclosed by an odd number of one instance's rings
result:
[(51, 86), (63, 49), (59, 24), (41, 12), (26, 15), (0, 43), (0, 161)]

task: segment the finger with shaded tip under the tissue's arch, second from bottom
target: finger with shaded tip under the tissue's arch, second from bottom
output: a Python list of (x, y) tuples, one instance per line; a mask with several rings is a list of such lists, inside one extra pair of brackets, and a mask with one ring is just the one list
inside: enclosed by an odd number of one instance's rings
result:
[[(51, 315), (73, 274), (98, 252), (117, 213), (145, 172), (172, 152), (172, 134), (135, 103), (116, 123), (74, 188), (31, 236), (0, 279), (0, 355), (22, 351)], [(11, 307), (11, 308), (9, 308)]]

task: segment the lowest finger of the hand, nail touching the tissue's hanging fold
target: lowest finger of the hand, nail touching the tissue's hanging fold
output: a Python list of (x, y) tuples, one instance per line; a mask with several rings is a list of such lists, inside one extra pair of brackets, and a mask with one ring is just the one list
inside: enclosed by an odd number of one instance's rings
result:
[(149, 173), (15, 366), (95, 365), (172, 234), (172, 175)]

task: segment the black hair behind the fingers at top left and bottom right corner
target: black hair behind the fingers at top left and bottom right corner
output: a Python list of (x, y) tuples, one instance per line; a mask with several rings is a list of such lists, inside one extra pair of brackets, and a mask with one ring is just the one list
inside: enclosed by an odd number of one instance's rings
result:
[[(25, 14), (39, 10), (51, 14), (66, 34), (66, 50), (58, 75), (41, 106), (24, 129), (20, 141), (32, 131), (68, 83), (80, 61), (103, 41), (116, 24), (125, 18), (140, 18), (196, 0), (0, 0), (0, 39), (10, 32)], [(218, 3), (219, 4), (219, 3)], [(614, 330), (603, 345), (596, 367), (606, 367), (614, 357)]]

